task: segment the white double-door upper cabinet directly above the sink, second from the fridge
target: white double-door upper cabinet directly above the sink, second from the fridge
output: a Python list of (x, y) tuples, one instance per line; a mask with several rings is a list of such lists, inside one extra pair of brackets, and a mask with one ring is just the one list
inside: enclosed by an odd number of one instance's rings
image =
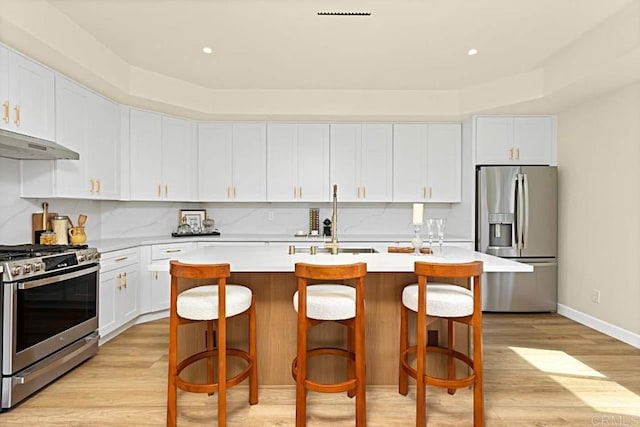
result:
[(332, 124), (330, 141), (330, 185), (338, 185), (338, 200), (391, 201), (391, 124)]

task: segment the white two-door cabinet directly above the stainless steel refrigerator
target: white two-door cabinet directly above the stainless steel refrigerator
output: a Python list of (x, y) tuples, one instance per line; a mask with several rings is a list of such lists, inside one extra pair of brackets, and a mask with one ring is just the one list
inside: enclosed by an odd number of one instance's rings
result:
[(555, 147), (552, 116), (476, 117), (476, 164), (549, 165)]

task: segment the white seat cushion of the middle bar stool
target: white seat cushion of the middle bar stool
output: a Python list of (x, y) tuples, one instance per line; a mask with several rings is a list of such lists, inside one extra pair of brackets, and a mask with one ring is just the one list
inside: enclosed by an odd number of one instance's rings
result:
[[(298, 311), (298, 291), (293, 294)], [(346, 320), (356, 317), (356, 289), (346, 285), (307, 286), (307, 317), (316, 320)]]

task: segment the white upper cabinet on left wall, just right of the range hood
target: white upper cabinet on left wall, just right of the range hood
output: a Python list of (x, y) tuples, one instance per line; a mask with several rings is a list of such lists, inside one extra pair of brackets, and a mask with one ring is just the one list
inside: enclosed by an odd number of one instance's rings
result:
[(24, 197), (120, 198), (117, 104), (56, 76), (56, 140), (79, 160), (22, 162)]

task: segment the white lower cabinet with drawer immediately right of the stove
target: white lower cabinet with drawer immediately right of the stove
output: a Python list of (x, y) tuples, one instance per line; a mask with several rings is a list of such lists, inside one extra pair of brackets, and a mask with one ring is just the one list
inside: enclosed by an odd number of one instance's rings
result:
[(137, 247), (102, 254), (98, 308), (101, 340), (138, 316), (139, 268)]

